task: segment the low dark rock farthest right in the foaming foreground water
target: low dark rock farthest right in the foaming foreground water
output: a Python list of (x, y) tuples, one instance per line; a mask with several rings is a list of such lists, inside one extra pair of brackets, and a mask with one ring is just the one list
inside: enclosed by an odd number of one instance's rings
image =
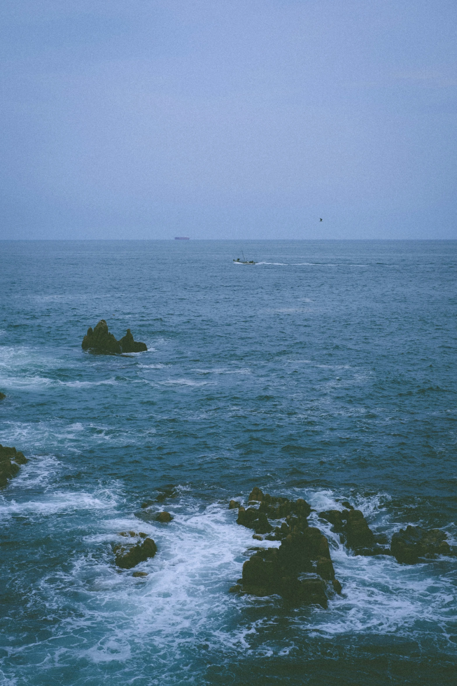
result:
[(397, 562), (414, 565), (419, 558), (449, 555), (451, 549), (446, 539), (445, 532), (439, 529), (427, 531), (420, 526), (407, 526), (393, 534), (391, 552)]

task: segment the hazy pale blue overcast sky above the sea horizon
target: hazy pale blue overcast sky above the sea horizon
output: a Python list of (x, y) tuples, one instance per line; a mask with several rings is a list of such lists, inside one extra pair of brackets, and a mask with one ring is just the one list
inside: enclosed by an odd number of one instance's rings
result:
[(2, 0), (0, 26), (0, 238), (457, 238), (455, 0)]

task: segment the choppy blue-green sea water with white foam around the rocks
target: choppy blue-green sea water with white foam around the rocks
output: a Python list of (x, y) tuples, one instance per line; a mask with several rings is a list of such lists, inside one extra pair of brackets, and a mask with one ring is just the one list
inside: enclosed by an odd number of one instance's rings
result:
[[(2, 241), (0, 683), (447, 684), (457, 560), (328, 535), (328, 609), (227, 591), (253, 486), (457, 541), (457, 241)], [(258, 263), (234, 265), (241, 256)], [(81, 348), (101, 318), (148, 351)], [(138, 515), (166, 495), (173, 521)], [(119, 532), (158, 554), (114, 566)]]

